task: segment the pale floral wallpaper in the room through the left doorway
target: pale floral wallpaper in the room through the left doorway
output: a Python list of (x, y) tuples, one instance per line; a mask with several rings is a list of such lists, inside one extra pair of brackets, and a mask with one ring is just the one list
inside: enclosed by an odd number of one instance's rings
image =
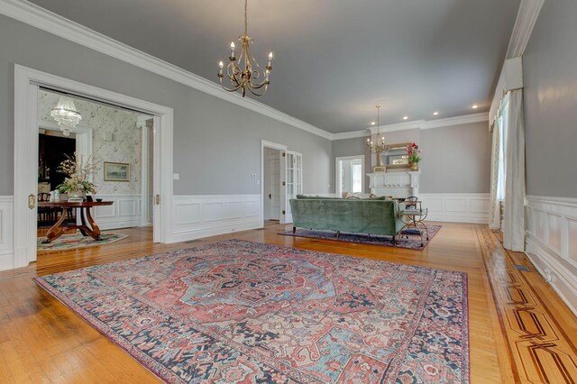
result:
[[(39, 91), (38, 114), (40, 121), (55, 123), (50, 116), (60, 95)], [(92, 157), (96, 164), (93, 175), (96, 195), (140, 195), (142, 132), (136, 127), (137, 114), (112, 106), (74, 99), (82, 114), (81, 126), (92, 130)], [(107, 136), (107, 137), (105, 137)], [(106, 140), (108, 139), (108, 140)], [(105, 181), (104, 162), (130, 164), (130, 182)]]

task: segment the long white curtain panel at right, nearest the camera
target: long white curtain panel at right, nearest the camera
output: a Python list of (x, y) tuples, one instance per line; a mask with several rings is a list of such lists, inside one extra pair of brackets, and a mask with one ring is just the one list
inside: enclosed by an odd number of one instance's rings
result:
[[(503, 246), (525, 251), (525, 127), (523, 90), (510, 91), (504, 109), (505, 138), (505, 212), (503, 213)], [(506, 122), (506, 123), (505, 123)]]

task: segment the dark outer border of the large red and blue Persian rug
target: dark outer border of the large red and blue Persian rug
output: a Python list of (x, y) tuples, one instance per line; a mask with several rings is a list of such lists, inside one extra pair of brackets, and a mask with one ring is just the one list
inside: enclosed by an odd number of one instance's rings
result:
[[(104, 266), (108, 266), (108, 265), (133, 264), (133, 263), (144, 261), (144, 260), (149, 259), (149, 258), (170, 256), (170, 255), (173, 255), (175, 252), (201, 251), (201, 250), (204, 250), (206, 248), (215, 247), (215, 246), (220, 245), (220, 244), (239, 243), (239, 242), (242, 242), (245, 244), (257, 244), (260, 246), (265, 245), (267, 247), (274, 248), (276, 250), (296, 251), (296, 253), (302, 253), (302, 254), (307, 254), (308, 252), (312, 252), (312, 253), (315, 253), (316, 256), (321, 256), (321, 257), (325, 257), (325, 258), (338, 257), (338, 258), (344, 258), (344, 259), (365, 259), (365, 258), (358, 257), (358, 256), (343, 255), (343, 254), (338, 254), (338, 253), (330, 253), (330, 252), (323, 252), (323, 251), (311, 251), (311, 250), (306, 250), (306, 249), (286, 247), (286, 246), (268, 244), (268, 243), (263, 243), (263, 242), (251, 242), (251, 241), (245, 241), (245, 240), (240, 240), (240, 239), (231, 239), (231, 240), (225, 240), (222, 242), (214, 242), (214, 243), (210, 243), (210, 244), (199, 245), (196, 247), (184, 248), (184, 249), (181, 249), (178, 251), (165, 251), (165, 252), (145, 255), (142, 257), (134, 258), (134, 259), (128, 259), (128, 260), (123, 260), (123, 261), (113, 261), (113, 262), (109, 262), (109, 263), (105, 263), (105, 264), (98, 264), (98, 265), (94, 265), (94, 266), (90, 266), (90, 267), (80, 268), (80, 269), (77, 269), (77, 271), (78, 270), (90, 270), (94, 267), (104, 267)], [(451, 272), (451, 273), (461, 275), (462, 288), (463, 288), (463, 299), (461, 302), (461, 305), (463, 307), (463, 318), (462, 318), (463, 340), (462, 340), (462, 342), (463, 342), (463, 349), (466, 350), (466, 355), (463, 353), (463, 356), (461, 359), (461, 361), (463, 362), (463, 366), (461, 367), (461, 369), (463, 371), (463, 379), (466, 378), (466, 380), (463, 380), (463, 382), (467, 382), (467, 383), (471, 382), (471, 349), (470, 349), (470, 332), (469, 332), (469, 294), (468, 294), (468, 274), (467, 274), (467, 272), (463, 272), (460, 270), (446, 270), (446, 269), (439, 269), (439, 268), (422, 267), (419, 265), (413, 265), (413, 264), (396, 262), (396, 261), (379, 261), (379, 262), (383, 263), (384, 265), (409, 266), (409, 267), (414, 267), (417, 270), (432, 270), (432, 271), (440, 271), (440, 272)], [(110, 342), (112, 342), (115, 345), (117, 345), (118, 347), (120, 347), (131, 358), (133, 358), (134, 361), (139, 362), (142, 365), (142, 368), (150, 371), (158, 379), (160, 379), (164, 382), (168, 382), (168, 383), (180, 383), (180, 382), (184, 383), (184, 382), (186, 382), (183, 379), (180, 379), (178, 376), (176, 376), (171, 370), (169, 370), (164, 365), (159, 364), (157, 361), (154, 361), (153, 359), (151, 359), (151, 357), (148, 356), (145, 352), (142, 352), (141, 350), (135, 348), (133, 343), (127, 342), (122, 337), (118, 337), (116, 332), (114, 330), (112, 330), (109, 325), (106, 325), (105, 323), (98, 320), (95, 315), (89, 314), (87, 312), (87, 310), (85, 310), (83, 307), (76, 304), (74, 301), (70, 300), (68, 297), (66, 297), (64, 294), (62, 294), (59, 290), (52, 287), (50, 285), (50, 283), (48, 283), (46, 280), (44, 280), (45, 277), (48, 277), (50, 275), (59, 275), (59, 274), (63, 274), (66, 272), (69, 272), (69, 271), (49, 274), (49, 275), (45, 275), (45, 276), (38, 276), (38, 277), (32, 278), (32, 280), (36, 284), (38, 284), (41, 288), (45, 289), (47, 291), (47, 293), (49, 293), (52, 297), (55, 297), (64, 306), (67, 306), (74, 314), (78, 315), (88, 325), (93, 326), (96, 329), (96, 331), (98, 331), (100, 334), (105, 336), (105, 338), (107, 340), (109, 340)], [(419, 317), (419, 323), (420, 323), (420, 320), (421, 320), (421, 318)], [(203, 330), (202, 332), (204, 333), (205, 331)], [(239, 351), (239, 352), (243, 353), (244, 355), (248, 355), (248, 356), (250, 356), (252, 354), (250, 352), (249, 353), (243, 352), (243, 351)], [(261, 352), (257, 352), (257, 353), (261, 354)], [(269, 362), (267, 362), (266, 364), (271, 365), (271, 366), (277, 365), (277, 364), (270, 364)], [(281, 365), (284, 366), (284, 364), (281, 364)], [(155, 368), (159, 368), (159, 370), (156, 370)], [(278, 368), (278, 366), (275, 368)], [(294, 370), (291, 367), (286, 367), (286, 368), (289, 370)], [(303, 381), (303, 382), (307, 382), (307, 381)]]

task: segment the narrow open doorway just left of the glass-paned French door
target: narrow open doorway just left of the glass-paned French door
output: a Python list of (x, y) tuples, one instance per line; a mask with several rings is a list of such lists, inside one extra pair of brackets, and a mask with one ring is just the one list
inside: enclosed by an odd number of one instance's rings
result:
[(264, 220), (280, 220), (280, 151), (266, 148), (264, 159)]

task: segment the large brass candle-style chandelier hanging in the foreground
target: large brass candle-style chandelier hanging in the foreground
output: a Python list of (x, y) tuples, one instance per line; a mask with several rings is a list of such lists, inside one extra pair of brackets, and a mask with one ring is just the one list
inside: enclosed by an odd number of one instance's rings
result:
[[(247, 8), (248, 0), (244, 0), (244, 34), (239, 37), (238, 41), (242, 44), (241, 53), (238, 58), (234, 55), (234, 41), (231, 42), (231, 56), (230, 63), (226, 66), (226, 77), (230, 79), (232, 87), (227, 88), (223, 86), (223, 69), (224, 63), (221, 61), (218, 63), (220, 68), (218, 72), (218, 80), (220, 81), (221, 87), (229, 92), (237, 91), (238, 89), (243, 90), (243, 97), (246, 95), (246, 90), (248, 89), (254, 96), (263, 96), (269, 87), (270, 80), (270, 62), (272, 61), (272, 52), (269, 53), (269, 64), (262, 69), (259, 63), (254, 59), (251, 53), (251, 44), (254, 42), (248, 34), (248, 23), (247, 23)], [(243, 63), (244, 60), (244, 63)], [(242, 66), (244, 69), (242, 69)], [(262, 80), (260, 80), (262, 78)]]

